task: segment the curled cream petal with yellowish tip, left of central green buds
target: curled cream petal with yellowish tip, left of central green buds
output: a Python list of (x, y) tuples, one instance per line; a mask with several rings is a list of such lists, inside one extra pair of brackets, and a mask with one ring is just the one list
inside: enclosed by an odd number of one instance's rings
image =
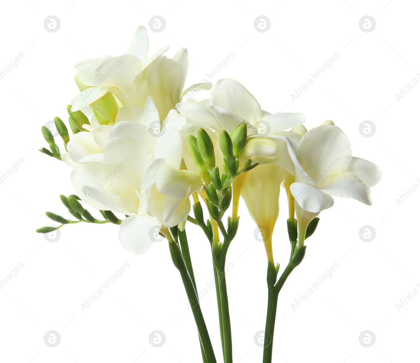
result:
[(156, 174), (156, 188), (165, 196), (177, 199), (187, 198), (203, 187), (198, 172), (163, 167)]

